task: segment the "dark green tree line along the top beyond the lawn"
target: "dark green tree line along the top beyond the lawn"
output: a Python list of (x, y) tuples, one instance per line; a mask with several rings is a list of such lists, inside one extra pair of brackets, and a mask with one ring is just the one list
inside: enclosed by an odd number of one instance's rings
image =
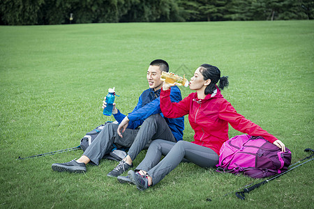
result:
[(1, 0), (0, 24), (313, 20), (313, 0)]

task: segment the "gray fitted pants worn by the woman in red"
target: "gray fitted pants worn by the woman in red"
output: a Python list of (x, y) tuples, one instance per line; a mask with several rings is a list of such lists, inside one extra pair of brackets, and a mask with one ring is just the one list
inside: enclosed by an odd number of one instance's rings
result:
[[(161, 155), (165, 157), (160, 161)], [(175, 144), (157, 139), (151, 143), (144, 160), (135, 170), (147, 171), (153, 179), (153, 185), (156, 185), (184, 159), (200, 167), (209, 168), (218, 164), (219, 156), (211, 148), (188, 141), (178, 141)]]

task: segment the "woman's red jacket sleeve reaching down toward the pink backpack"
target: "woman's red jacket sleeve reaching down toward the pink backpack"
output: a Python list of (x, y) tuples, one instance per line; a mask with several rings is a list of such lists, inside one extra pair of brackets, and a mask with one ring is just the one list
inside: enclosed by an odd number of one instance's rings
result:
[(251, 136), (263, 137), (271, 143), (278, 140), (266, 130), (263, 130), (259, 125), (244, 118), (241, 114), (238, 114), (230, 102), (227, 102), (227, 100), (225, 100), (225, 102), (223, 102), (220, 106), (219, 118), (230, 123), (230, 125), (239, 132), (243, 132)]

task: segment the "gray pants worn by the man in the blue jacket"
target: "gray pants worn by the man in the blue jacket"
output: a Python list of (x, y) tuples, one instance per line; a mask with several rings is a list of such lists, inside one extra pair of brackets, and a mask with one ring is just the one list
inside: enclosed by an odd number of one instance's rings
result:
[(140, 151), (149, 146), (151, 140), (165, 139), (176, 141), (167, 125), (165, 119), (160, 114), (149, 116), (140, 129), (126, 129), (122, 133), (123, 138), (117, 133), (119, 124), (107, 123), (103, 130), (94, 139), (91, 145), (84, 151), (83, 155), (89, 157), (91, 164), (98, 165), (103, 156), (110, 153), (114, 148), (112, 144), (117, 144), (130, 148), (128, 155), (134, 160)]

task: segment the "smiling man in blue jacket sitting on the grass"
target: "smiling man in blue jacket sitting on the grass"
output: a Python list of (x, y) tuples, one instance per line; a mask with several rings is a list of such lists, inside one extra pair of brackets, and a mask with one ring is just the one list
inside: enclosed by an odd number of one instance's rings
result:
[[(166, 61), (161, 59), (152, 61), (147, 70), (149, 89), (143, 91), (142, 95), (140, 95), (135, 109), (128, 116), (125, 116), (121, 114), (114, 104), (112, 114), (120, 125), (107, 123), (78, 160), (52, 164), (52, 170), (70, 173), (86, 172), (86, 164), (98, 165), (103, 156), (110, 153), (113, 149), (113, 144), (129, 148), (134, 142), (133, 148), (128, 152), (128, 157), (134, 160), (136, 155), (140, 153), (140, 150), (149, 144), (151, 140), (165, 139), (174, 142), (182, 140), (184, 117), (163, 118), (160, 115), (159, 94), (160, 88), (163, 86), (160, 76), (163, 71), (169, 71), (169, 65)], [(170, 98), (172, 102), (182, 100), (179, 88), (174, 88)], [(105, 102), (103, 107), (105, 107)], [(123, 129), (122, 133), (121, 129)], [(115, 177), (127, 171), (130, 167), (133, 167), (132, 162), (129, 162), (126, 157), (125, 160), (119, 163), (118, 169), (114, 169), (107, 176)]]

